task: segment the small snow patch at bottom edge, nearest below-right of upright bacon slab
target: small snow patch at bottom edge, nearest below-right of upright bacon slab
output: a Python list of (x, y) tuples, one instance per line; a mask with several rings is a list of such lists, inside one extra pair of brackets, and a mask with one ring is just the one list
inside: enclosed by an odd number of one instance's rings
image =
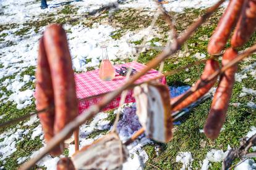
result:
[(176, 156), (176, 163), (181, 162), (181, 169), (192, 169), (192, 162), (194, 159), (192, 158), (192, 154), (190, 152), (181, 152)]

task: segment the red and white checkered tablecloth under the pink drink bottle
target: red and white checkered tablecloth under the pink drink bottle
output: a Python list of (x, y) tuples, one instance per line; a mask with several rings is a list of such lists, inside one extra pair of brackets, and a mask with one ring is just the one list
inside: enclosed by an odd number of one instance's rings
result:
[[(137, 71), (142, 70), (146, 67), (145, 65), (137, 62), (130, 62), (121, 65), (115, 65), (114, 68), (120, 69), (122, 66), (135, 68)], [(125, 77), (119, 76), (116, 73), (116, 78), (112, 81), (103, 81), (99, 78), (99, 70), (87, 71), (85, 73), (75, 74), (75, 85), (77, 98), (79, 99), (79, 114), (86, 110), (90, 105), (100, 102), (103, 99), (100, 97), (93, 97), (95, 95), (105, 94), (107, 92), (114, 91), (118, 87), (125, 83)], [(154, 78), (156, 76), (162, 75), (160, 72), (151, 69), (148, 71), (147, 75), (139, 78), (135, 83), (142, 83), (148, 79)], [(160, 82), (166, 84), (166, 78), (160, 79)], [(90, 99), (87, 99), (87, 98)], [(104, 110), (110, 110), (118, 107), (121, 100), (121, 95), (118, 95), (116, 99), (111, 101)], [(132, 90), (130, 90), (126, 96), (126, 103), (135, 102), (134, 97), (132, 97)]]

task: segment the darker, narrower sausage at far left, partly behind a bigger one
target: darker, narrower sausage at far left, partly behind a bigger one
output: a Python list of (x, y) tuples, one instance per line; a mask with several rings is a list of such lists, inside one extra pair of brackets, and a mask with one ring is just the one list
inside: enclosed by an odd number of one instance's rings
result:
[[(43, 39), (40, 39), (36, 68), (36, 110), (49, 108), (54, 103), (53, 86), (50, 75), (51, 73), (49, 70), (48, 60), (46, 58), (45, 47), (43, 46)], [(54, 136), (54, 108), (40, 113), (38, 117), (42, 124), (47, 143)], [(61, 149), (56, 147), (50, 154), (54, 156), (59, 155), (60, 153)]]

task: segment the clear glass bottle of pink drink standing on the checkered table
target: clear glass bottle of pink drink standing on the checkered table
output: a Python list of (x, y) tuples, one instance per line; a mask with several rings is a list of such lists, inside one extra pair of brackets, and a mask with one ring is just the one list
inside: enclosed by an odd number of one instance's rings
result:
[(107, 46), (101, 46), (102, 49), (102, 60), (100, 64), (100, 79), (103, 81), (111, 81), (114, 79), (115, 71), (114, 67), (108, 59)]

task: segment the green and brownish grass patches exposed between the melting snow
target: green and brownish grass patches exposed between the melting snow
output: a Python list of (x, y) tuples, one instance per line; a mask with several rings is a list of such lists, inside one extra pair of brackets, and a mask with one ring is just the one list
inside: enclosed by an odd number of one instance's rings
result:
[[(58, 11), (58, 17), (55, 14), (48, 14), (45, 16), (40, 16), (40, 20), (33, 20), (29, 22), (23, 23), (23, 27), (20, 30), (15, 31), (15, 36), (27, 36), (27, 33), (30, 31), (35, 31), (35, 33), (39, 33), (40, 29), (43, 26), (48, 25), (49, 23), (61, 23), (61, 24), (70, 24), (74, 25), (83, 25), (83, 26), (92, 26), (93, 23), (103, 23), (108, 20), (108, 11), (103, 12), (100, 17), (94, 18), (94, 16), (88, 16), (84, 18), (84, 20), (77, 20), (76, 18), (70, 17), (70, 15), (77, 14), (77, 8), (74, 6), (64, 6), (62, 9)], [(187, 26), (193, 22), (195, 18), (199, 15), (202, 15), (205, 10), (200, 9), (186, 9), (186, 11), (182, 14), (171, 13), (176, 16), (176, 28), (178, 33), (184, 31)], [(213, 30), (216, 27), (218, 19), (221, 16), (222, 10), (216, 12), (207, 23), (204, 23), (203, 26), (198, 28), (198, 30), (191, 36), (188, 41), (189, 47), (189, 55), (186, 55), (184, 51), (184, 47), (182, 47), (181, 52), (173, 55), (170, 59), (166, 59), (164, 62), (164, 72), (171, 71), (176, 68), (187, 65), (188, 63), (195, 62), (197, 59), (194, 57), (194, 54), (199, 52), (200, 54), (207, 54), (207, 44), (208, 39), (202, 40), (202, 36), (206, 38), (210, 38)], [(137, 31), (142, 28), (146, 28), (150, 22), (152, 17), (147, 15), (147, 10), (135, 10), (135, 9), (121, 9), (117, 10), (113, 14), (112, 22), (109, 23), (111, 26), (116, 27), (117, 30), (113, 31), (110, 34), (113, 39), (120, 39), (127, 31)], [(153, 46), (154, 42), (164, 42), (167, 41), (167, 32), (169, 30), (168, 25), (164, 22), (163, 18), (158, 17), (156, 22), (156, 26), (158, 27), (158, 32), (162, 34), (161, 37), (155, 37), (151, 39), (149, 42)], [(17, 24), (10, 25), (0, 25), (0, 42), (4, 42), (7, 46), (13, 46), (14, 42), (5, 41), (6, 33), (1, 33), (3, 30), (10, 30), (12, 28), (19, 28)], [(69, 31), (70, 33), (70, 31)], [(254, 34), (253, 38), (245, 44), (244, 47), (251, 46), (254, 44), (256, 39), (256, 34)], [(132, 42), (135, 45), (139, 45), (142, 43), (143, 39), (139, 41)], [(229, 47), (228, 43), (226, 47)], [(154, 59), (156, 55), (158, 55), (160, 51), (156, 51), (155, 49), (150, 49), (148, 51), (142, 52), (139, 55), (138, 62), (140, 63), (148, 63), (151, 59)], [(208, 56), (207, 56), (208, 57)], [(242, 62), (239, 64), (239, 71), (242, 70), (242, 67), (245, 65), (249, 65), (255, 62), (255, 55), (252, 56), (252, 59), (247, 62)], [(122, 62), (131, 62), (131, 58), (127, 58), (124, 60), (116, 59), (113, 60), (114, 63), (122, 63)], [(87, 60), (87, 62), (91, 62)], [(2, 66), (1, 66), (2, 67)], [(186, 84), (192, 86), (195, 81), (200, 77), (203, 71), (204, 65), (198, 65), (192, 68), (189, 68), (189, 71), (183, 70), (175, 75), (167, 76), (167, 83), (169, 86), (181, 86), (184, 85), (184, 80), (190, 78), (190, 81)], [(87, 68), (87, 70), (94, 70), (95, 68)], [(28, 67), (27, 70), (20, 73), (20, 76), (23, 75), (35, 75), (35, 67)], [(5, 77), (0, 79), (0, 82), (5, 79), (14, 79), (16, 75), (12, 75), (9, 77)], [(229, 106), (229, 110), (227, 113), (226, 122), (224, 124), (224, 131), (221, 132), (220, 137), (216, 140), (209, 140), (205, 137), (204, 134), (200, 133), (199, 130), (203, 129), (203, 125), (205, 123), (205, 119), (207, 118), (207, 114), (210, 110), (211, 100), (208, 99), (205, 102), (201, 103), (198, 107), (194, 108), (190, 113), (179, 121), (182, 122), (181, 125), (176, 126), (176, 130), (174, 132), (174, 138), (168, 144), (157, 144), (160, 145), (159, 154), (156, 154), (155, 144), (148, 144), (143, 147), (145, 152), (148, 154), (149, 160), (145, 164), (145, 169), (154, 169), (154, 166), (157, 166), (161, 169), (180, 169), (182, 167), (181, 163), (176, 163), (176, 156), (179, 152), (191, 152), (194, 158), (192, 163), (192, 168), (196, 169), (200, 167), (200, 162), (205, 158), (207, 152), (211, 149), (222, 149), (226, 150), (227, 146), (237, 147), (239, 145), (239, 139), (241, 139), (250, 129), (250, 126), (255, 126), (256, 124), (256, 112), (254, 109), (246, 107), (245, 105), (255, 100), (254, 95), (246, 95), (245, 97), (239, 97), (241, 93), (242, 86), (247, 88), (256, 89), (255, 79), (252, 78), (249, 74), (247, 74), (249, 78), (243, 79), (242, 83), (236, 82), (234, 84), (233, 95), (231, 98), (231, 103), (242, 103), (240, 107), (234, 107), (232, 105)], [(34, 89), (34, 83), (27, 83), (22, 87), (22, 91), (25, 89)], [(6, 93), (6, 95), (11, 95), (11, 92), (7, 91), (6, 87), (1, 87), (1, 90)], [(34, 100), (33, 100), (34, 102)], [(17, 118), (21, 115), (25, 115), (26, 113), (30, 113), (31, 111), (35, 111), (35, 103), (31, 106), (24, 108), (22, 110), (17, 110), (16, 105), (12, 102), (1, 103), (0, 105), (0, 115), (4, 115), (4, 117), (0, 120), (0, 123), (4, 121), (8, 121), (13, 118)], [(114, 111), (108, 111), (108, 117), (106, 120), (110, 121), (110, 124), (113, 124), (116, 115)], [(27, 121), (27, 120), (26, 120)], [(20, 123), (22, 125), (22, 123)], [(34, 129), (38, 126), (38, 123), (33, 124), (29, 127), (22, 127), (27, 129)], [(7, 127), (4, 129), (0, 129), (0, 132), (7, 131), (9, 128), (14, 128), (15, 125), (11, 127)], [(98, 130), (92, 132), (92, 134), (88, 135), (88, 138), (93, 138), (99, 136), (100, 134), (106, 134), (109, 129), (106, 130)], [(36, 137), (34, 140), (30, 139), (32, 131), (27, 136), (24, 136), (23, 141), (19, 141), (16, 144), (17, 151), (12, 154), (9, 158), (6, 159), (6, 163), (4, 164), (6, 169), (16, 169), (19, 164), (17, 164), (17, 158), (29, 156), (32, 152), (38, 150), (42, 147), (41, 140), (39, 137)], [(205, 146), (202, 147), (202, 142), (205, 143)], [(69, 155), (68, 150), (64, 151), (64, 155)], [(238, 161), (238, 160), (237, 160)], [(211, 163), (211, 169), (220, 169), (221, 163)], [(0, 162), (0, 166), (2, 162)], [(36, 167), (43, 168), (43, 167)], [(44, 169), (44, 168), (43, 168)]]

